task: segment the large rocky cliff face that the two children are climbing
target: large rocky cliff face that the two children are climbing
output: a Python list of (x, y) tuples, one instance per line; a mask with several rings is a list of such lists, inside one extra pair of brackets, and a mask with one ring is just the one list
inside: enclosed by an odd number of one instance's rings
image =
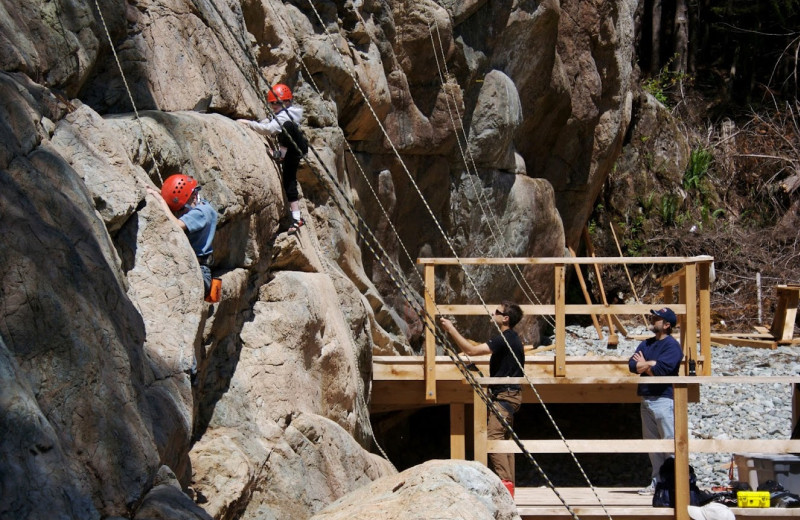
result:
[[(0, 518), (308, 518), (392, 474), (371, 355), (419, 321), (349, 223), (417, 284), (418, 255), (562, 254), (630, 120), (635, 5), (2, 0)], [(234, 121), (278, 81), (316, 150), (299, 237)], [(178, 171), (220, 212), (218, 304), (145, 189)]]

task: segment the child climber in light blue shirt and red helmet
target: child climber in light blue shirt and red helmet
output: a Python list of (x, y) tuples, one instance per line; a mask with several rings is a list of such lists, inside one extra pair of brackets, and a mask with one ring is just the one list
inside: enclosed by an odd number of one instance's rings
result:
[(207, 200), (198, 197), (200, 186), (188, 175), (169, 176), (161, 186), (161, 193), (149, 186), (147, 191), (158, 197), (167, 217), (186, 232), (200, 263), (205, 296), (208, 296), (211, 291), (211, 253), (214, 251), (211, 242), (217, 230), (217, 210)]

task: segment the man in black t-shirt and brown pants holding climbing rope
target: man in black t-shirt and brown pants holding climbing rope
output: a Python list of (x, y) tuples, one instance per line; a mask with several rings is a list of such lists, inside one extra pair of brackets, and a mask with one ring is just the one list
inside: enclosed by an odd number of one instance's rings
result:
[[(522, 309), (516, 303), (504, 301), (495, 309), (492, 318), (502, 335), (495, 335), (489, 341), (480, 345), (474, 345), (470, 340), (462, 336), (450, 320), (440, 318), (439, 323), (445, 332), (453, 338), (458, 348), (466, 355), (492, 355), (489, 358), (490, 377), (522, 377), (521, 366), (524, 366), (525, 363), (525, 352), (522, 348), (522, 340), (514, 330), (514, 326), (522, 319)], [(509, 426), (514, 426), (514, 414), (522, 404), (520, 386), (492, 385), (489, 387), (489, 393), (500, 415), (503, 416)], [(489, 412), (487, 436), (490, 440), (504, 440), (510, 437), (509, 432), (505, 430), (503, 424), (491, 411)], [(508, 488), (511, 496), (514, 496), (514, 454), (490, 453), (489, 463)]]

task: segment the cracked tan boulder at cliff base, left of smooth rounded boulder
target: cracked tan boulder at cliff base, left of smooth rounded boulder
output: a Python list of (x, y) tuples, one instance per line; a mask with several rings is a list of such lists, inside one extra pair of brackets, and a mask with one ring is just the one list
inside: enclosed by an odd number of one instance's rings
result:
[(265, 406), (249, 407), (252, 422), (218, 416), (192, 448), (192, 490), (214, 518), (308, 518), (394, 473), (336, 423), (308, 413), (275, 422)]

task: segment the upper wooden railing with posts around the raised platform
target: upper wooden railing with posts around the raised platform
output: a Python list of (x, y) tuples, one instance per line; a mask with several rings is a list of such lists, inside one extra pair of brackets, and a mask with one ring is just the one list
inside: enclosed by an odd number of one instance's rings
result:
[[(497, 302), (487, 302), (487, 306), (479, 304), (443, 304), (435, 300), (435, 268), (436, 266), (462, 265), (540, 265), (553, 267), (553, 303), (525, 304), (520, 307), (526, 315), (551, 315), (555, 320), (555, 358), (553, 361), (553, 377), (567, 377), (566, 359), (566, 316), (568, 314), (583, 315), (635, 315), (649, 314), (651, 309), (668, 305), (679, 317), (681, 345), (685, 356), (684, 374), (688, 374), (688, 364), (694, 360), (697, 364), (698, 376), (711, 375), (711, 296), (710, 271), (713, 258), (710, 256), (695, 257), (548, 257), (548, 258), (420, 258), (417, 263), (424, 266), (425, 274), (425, 309), (429, 316), (430, 328), (425, 333), (425, 399), (436, 401), (436, 338), (431, 332), (437, 325), (433, 317), (441, 314), (468, 316), (490, 314)], [(664, 300), (660, 304), (570, 304), (566, 303), (566, 267), (580, 265), (636, 265), (667, 264), (676, 265), (678, 270), (661, 280), (664, 289)], [(674, 287), (678, 287), (677, 302), (674, 299)], [(509, 288), (511, 289), (511, 288)], [(699, 341), (698, 338), (699, 330)], [(699, 343), (699, 356), (698, 356)]]

